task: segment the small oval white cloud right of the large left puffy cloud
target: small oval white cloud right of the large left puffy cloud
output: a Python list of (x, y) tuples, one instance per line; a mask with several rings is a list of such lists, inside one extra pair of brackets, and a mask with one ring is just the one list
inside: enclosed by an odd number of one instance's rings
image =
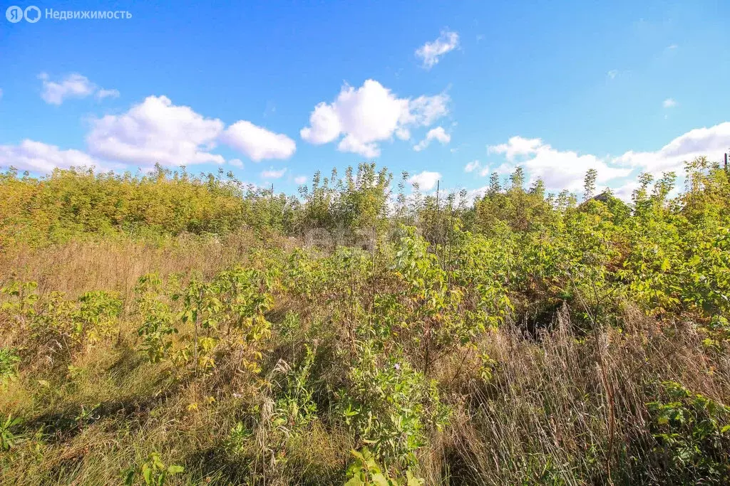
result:
[(240, 120), (226, 128), (220, 141), (245, 154), (254, 162), (264, 159), (288, 159), (296, 151), (294, 141), (283, 133), (274, 133)]

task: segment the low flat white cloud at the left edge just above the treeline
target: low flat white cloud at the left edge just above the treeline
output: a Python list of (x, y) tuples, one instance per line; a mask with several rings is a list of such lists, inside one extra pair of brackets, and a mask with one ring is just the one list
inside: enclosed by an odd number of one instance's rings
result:
[(61, 150), (39, 141), (23, 140), (19, 145), (0, 145), (0, 166), (12, 165), (20, 171), (47, 173), (54, 168), (99, 167), (99, 163), (80, 150)]

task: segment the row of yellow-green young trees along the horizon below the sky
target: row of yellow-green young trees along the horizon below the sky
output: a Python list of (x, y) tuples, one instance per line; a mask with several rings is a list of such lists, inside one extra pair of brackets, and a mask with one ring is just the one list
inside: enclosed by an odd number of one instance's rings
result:
[[(696, 212), (710, 205), (723, 208), (722, 181), (726, 168), (706, 159), (686, 165), (684, 195), (669, 202), (675, 173), (639, 176), (632, 205), (610, 191), (596, 196), (617, 218), (639, 213), (652, 205), (672, 205), (673, 210)], [(596, 190), (596, 171), (585, 176), (583, 205)], [(299, 197), (274, 194), (272, 189), (243, 184), (232, 173), (192, 175), (182, 168), (170, 171), (157, 166), (145, 176), (131, 173), (94, 173), (91, 169), (56, 169), (40, 179), (0, 173), (0, 245), (22, 238), (35, 245), (68, 240), (74, 235), (110, 232), (146, 232), (162, 235), (225, 234), (239, 227), (305, 235), (308, 230), (330, 232), (384, 230), (393, 224), (416, 225), (431, 242), (443, 243), (448, 228), (459, 222), (466, 230), (494, 232), (500, 224), (528, 231), (578, 206), (577, 197), (564, 190), (548, 194), (542, 181), (525, 188), (526, 176), (516, 168), (506, 184), (497, 173), (483, 197), (467, 200), (466, 191), (423, 195), (418, 186), (407, 194), (409, 174), (402, 173), (397, 189), (387, 168), (364, 163), (344, 176), (333, 170), (329, 177), (315, 173), (310, 185), (299, 187)], [(703, 210), (704, 211), (704, 210)], [(718, 209), (719, 211), (719, 209)], [(22, 233), (22, 235), (21, 235)]]

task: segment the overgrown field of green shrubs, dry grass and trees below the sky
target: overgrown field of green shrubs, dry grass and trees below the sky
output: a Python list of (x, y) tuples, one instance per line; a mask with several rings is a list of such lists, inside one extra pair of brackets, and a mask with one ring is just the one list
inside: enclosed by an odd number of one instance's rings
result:
[(730, 174), (578, 203), (0, 174), (12, 485), (730, 478)]

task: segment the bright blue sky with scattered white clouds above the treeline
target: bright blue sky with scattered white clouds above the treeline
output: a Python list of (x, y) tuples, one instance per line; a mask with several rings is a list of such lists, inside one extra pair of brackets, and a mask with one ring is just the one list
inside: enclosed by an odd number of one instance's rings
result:
[(728, 1), (35, 5), (0, 21), (0, 168), (160, 161), (295, 192), (374, 160), (476, 194), (515, 165), (575, 190), (594, 167), (629, 195), (730, 147)]

